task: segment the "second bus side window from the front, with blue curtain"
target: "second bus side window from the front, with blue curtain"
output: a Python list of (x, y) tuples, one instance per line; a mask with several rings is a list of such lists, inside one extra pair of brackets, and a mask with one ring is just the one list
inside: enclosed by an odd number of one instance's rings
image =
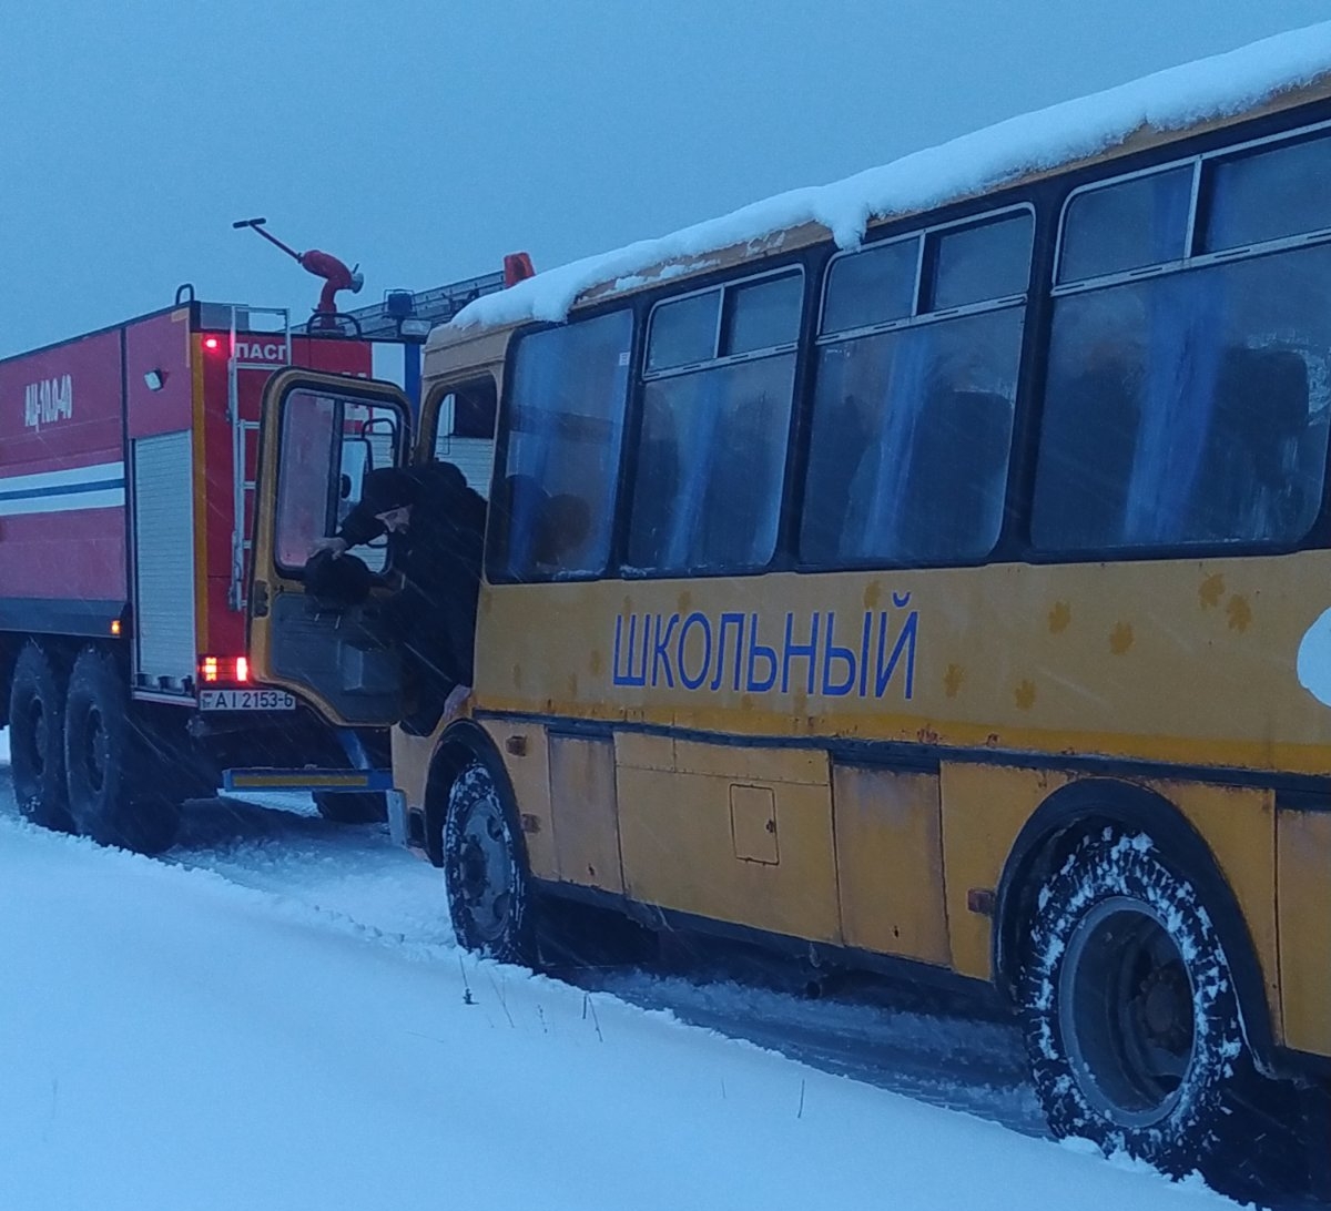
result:
[[(673, 342), (675, 309), (683, 303), (695, 309), (696, 330), (709, 327), (712, 337), (704, 366), (648, 377), (628, 534), (632, 568), (743, 570), (772, 558), (803, 301), (804, 277), (796, 271), (728, 285), (652, 314), (648, 350), (659, 323)], [(651, 369), (648, 351), (650, 375)]]

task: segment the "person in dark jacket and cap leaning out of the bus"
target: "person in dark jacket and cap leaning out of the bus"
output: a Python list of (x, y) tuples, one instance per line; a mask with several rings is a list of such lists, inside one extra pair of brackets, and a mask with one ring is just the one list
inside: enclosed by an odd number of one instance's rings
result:
[(415, 707), (403, 724), (417, 725), (409, 731), (433, 731), (471, 692), (484, 527), (484, 498), (462, 472), (451, 463), (423, 463), (370, 471), (338, 532), (315, 543), (315, 552), (338, 556), (389, 538), (389, 567), (402, 587), (385, 603), (382, 620), (415, 665)]

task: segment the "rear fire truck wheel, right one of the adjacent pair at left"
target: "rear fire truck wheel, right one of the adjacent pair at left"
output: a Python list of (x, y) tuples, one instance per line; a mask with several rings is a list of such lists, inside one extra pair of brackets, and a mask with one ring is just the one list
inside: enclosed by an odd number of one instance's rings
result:
[(101, 845), (161, 853), (176, 840), (180, 809), (160, 792), (162, 772), (129, 719), (129, 695), (108, 652), (84, 648), (65, 699), (69, 813)]

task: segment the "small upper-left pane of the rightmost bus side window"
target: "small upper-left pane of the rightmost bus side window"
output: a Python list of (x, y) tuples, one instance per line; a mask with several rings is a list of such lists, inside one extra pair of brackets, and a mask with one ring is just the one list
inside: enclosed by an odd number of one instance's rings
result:
[(1181, 261), (1193, 172), (1185, 164), (1073, 194), (1063, 216), (1059, 285)]

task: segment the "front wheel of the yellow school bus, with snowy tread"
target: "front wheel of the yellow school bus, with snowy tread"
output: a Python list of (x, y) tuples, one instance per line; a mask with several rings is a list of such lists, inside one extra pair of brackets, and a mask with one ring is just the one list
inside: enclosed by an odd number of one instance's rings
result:
[(500, 962), (535, 961), (522, 836), (480, 760), (467, 765), (449, 790), (443, 880), (462, 946)]

